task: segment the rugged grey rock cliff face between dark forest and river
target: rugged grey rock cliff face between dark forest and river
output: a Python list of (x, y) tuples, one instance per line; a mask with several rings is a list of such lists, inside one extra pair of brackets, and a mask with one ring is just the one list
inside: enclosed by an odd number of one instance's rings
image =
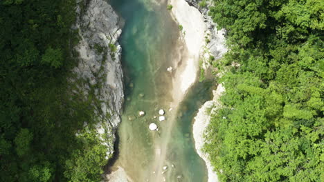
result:
[[(114, 152), (115, 132), (120, 123), (123, 104), (123, 71), (120, 63), (121, 48), (117, 42), (121, 34), (120, 19), (103, 0), (78, 2), (78, 30), (80, 43), (78, 67), (73, 69), (76, 80), (82, 80), (78, 90), (91, 97), (96, 106), (96, 132), (107, 145), (106, 159)], [(87, 123), (85, 123), (87, 125)]]

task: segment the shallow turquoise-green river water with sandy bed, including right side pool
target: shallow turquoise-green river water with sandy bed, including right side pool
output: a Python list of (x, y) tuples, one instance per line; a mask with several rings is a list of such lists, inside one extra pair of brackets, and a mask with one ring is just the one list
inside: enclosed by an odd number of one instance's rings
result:
[[(179, 26), (163, 1), (109, 3), (125, 19), (119, 40), (123, 48), (125, 108), (118, 129), (118, 156), (112, 170), (123, 167), (134, 182), (163, 181), (160, 176), (166, 181), (207, 181), (206, 165), (195, 151), (192, 139), (192, 119), (201, 104), (210, 99), (211, 83), (196, 83), (179, 107), (169, 112), (174, 100), (170, 92), (174, 89), (174, 74), (166, 69), (179, 61), (175, 60), (179, 59), (183, 45), (179, 41)], [(161, 108), (166, 112), (166, 121), (155, 118)], [(140, 110), (145, 111), (144, 117), (138, 116)], [(159, 126), (159, 131), (148, 129), (152, 122)], [(156, 147), (161, 143), (165, 143), (165, 151)], [(168, 165), (168, 170), (161, 174), (163, 170), (156, 168), (162, 166), (156, 163)]]

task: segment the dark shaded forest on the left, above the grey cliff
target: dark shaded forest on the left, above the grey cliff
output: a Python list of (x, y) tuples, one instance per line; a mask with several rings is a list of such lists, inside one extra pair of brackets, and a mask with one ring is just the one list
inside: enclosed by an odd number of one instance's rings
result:
[(100, 179), (93, 99), (67, 80), (75, 17), (75, 0), (0, 1), (0, 181)]

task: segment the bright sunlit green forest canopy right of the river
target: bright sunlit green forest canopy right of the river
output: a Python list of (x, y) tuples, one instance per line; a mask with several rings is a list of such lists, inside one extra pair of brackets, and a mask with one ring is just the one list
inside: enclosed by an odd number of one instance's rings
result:
[(215, 5), (229, 47), (206, 144), (219, 179), (324, 181), (324, 1)]

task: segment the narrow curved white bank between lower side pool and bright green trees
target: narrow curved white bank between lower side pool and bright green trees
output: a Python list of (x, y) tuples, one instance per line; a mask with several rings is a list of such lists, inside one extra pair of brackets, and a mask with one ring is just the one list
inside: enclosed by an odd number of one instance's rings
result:
[(217, 90), (213, 91), (214, 98), (212, 101), (207, 101), (203, 106), (199, 109), (197, 116), (195, 117), (195, 123), (193, 125), (193, 136), (195, 139), (195, 148), (199, 156), (206, 162), (207, 170), (208, 170), (208, 182), (217, 182), (217, 174), (213, 171), (213, 166), (209, 161), (208, 154), (202, 151), (204, 147), (204, 143), (206, 143), (204, 139), (204, 135), (206, 134), (206, 128), (210, 123), (210, 113), (208, 113), (208, 109), (213, 108), (211, 112), (215, 112), (217, 108), (219, 108), (219, 97), (225, 91), (222, 84), (219, 84)]

